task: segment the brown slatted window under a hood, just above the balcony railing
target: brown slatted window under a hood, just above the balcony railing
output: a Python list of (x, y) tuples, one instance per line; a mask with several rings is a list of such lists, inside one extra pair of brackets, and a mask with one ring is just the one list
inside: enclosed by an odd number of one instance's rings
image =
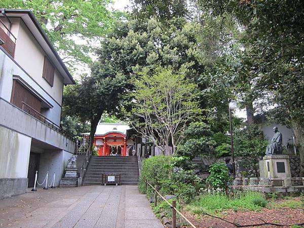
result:
[(26, 104), (37, 112), (41, 112), (41, 101), (16, 80), (13, 81), (11, 103), (21, 109), (24, 109), (24, 104)]

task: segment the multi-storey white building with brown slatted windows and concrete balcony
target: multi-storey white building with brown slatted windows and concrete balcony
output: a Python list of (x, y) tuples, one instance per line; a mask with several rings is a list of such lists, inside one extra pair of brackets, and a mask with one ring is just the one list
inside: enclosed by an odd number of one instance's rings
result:
[(60, 129), (63, 86), (74, 84), (29, 10), (0, 12), (0, 198), (63, 175), (75, 143)]

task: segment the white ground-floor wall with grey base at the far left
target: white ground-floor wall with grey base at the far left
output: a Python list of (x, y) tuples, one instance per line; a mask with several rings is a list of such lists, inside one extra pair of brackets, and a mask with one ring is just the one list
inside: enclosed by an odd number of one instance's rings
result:
[(0, 126), (0, 199), (23, 194), (31, 138)]

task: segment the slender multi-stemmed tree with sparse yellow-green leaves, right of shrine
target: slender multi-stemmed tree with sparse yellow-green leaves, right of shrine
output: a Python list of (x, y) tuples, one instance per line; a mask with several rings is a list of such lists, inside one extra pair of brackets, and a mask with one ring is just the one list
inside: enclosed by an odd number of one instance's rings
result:
[(168, 150), (171, 139), (173, 153), (181, 141), (188, 121), (201, 113), (197, 99), (197, 85), (189, 83), (183, 75), (174, 74), (170, 68), (157, 68), (155, 73), (140, 73), (134, 81), (131, 113), (142, 117), (137, 129), (153, 141), (162, 151)]

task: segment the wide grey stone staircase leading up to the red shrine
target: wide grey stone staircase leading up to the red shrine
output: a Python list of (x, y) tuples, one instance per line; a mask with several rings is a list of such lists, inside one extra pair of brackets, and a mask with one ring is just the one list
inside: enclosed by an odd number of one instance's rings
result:
[(137, 157), (92, 156), (82, 185), (100, 185), (102, 173), (121, 173), (122, 185), (137, 185)]

